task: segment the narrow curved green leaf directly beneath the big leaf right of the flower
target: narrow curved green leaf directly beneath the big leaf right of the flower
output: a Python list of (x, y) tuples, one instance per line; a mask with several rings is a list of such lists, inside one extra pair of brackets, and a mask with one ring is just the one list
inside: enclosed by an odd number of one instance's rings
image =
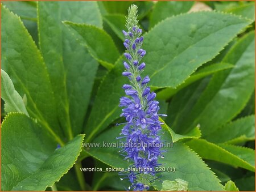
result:
[(189, 84), (196, 82), (197, 80), (204, 78), (207, 75), (214, 74), (214, 72), (230, 69), (232, 67), (233, 65), (229, 63), (217, 63), (214, 65), (204, 67), (203, 69), (193, 73), (191, 77), (186, 79), (184, 83), (180, 84), (176, 88), (165, 88), (162, 91), (159, 91), (157, 95), (158, 96), (157, 99), (164, 99), (164, 100), (170, 99), (171, 96), (175, 95), (178, 91), (180, 91), (180, 89), (187, 87)]

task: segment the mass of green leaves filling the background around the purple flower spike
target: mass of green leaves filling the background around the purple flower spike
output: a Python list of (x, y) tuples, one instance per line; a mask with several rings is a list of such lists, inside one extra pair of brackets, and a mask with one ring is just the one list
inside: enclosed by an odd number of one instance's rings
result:
[[(80, 168), (127, 167), (118, 148), (82, 142), (119, 135), (131, 3), (3, 2), (2, 190), (127, 186), (116, 172)], [(168, 115), (162, 138), (174, 142), (160, 161), (176, 171), (154, 188), (181, 178), (193, 191), (254, 191), (254, 2), (135, 4), (146, 32), (144, 73)]]

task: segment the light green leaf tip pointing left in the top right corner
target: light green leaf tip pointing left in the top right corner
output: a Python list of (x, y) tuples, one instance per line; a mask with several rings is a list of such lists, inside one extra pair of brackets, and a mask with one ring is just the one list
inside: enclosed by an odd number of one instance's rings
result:
[(234, 5), (222, 8), (221, 11), (241, 15), (245, 18), (255, 20), (255, 2), (245, 3), (243, 5)]

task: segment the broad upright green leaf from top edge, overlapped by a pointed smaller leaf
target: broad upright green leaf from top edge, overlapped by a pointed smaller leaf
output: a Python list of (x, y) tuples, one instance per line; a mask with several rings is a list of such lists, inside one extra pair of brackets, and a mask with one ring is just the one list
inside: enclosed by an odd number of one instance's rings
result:
[[(84, 12), (88, 14), (84, 15)], [(80, 36), (75, 33), (72, 36), (61, 23), (63, 20), (98, 27), (102, 20), (96, 2), (38, 3), (40, 49), (58, 101), (61, 126), (71, 139), (82, 130), (98, 65), (79, 44)]]

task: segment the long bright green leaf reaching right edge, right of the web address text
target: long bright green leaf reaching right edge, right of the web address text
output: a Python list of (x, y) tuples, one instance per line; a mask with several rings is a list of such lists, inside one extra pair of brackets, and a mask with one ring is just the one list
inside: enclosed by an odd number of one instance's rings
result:
[[(192, 139), (186, 142), (186, 144), (203, 159), (219, 161), (221, 163), (232, 165), (233, 167), (241, 167), (251, 170), (252, 172), (255, 171), (254, 163), (251, 164), (252, 154), (254, 153), (253, 150), (249, 151), (247, 148), (237, 148), (239, 151), (233, 154), (233, 147), (237, 146), (232, 146), (230, 148), (223, 144), (218, 146), (217, 144), (210, 143), (204, 139)], [(243, 153), (243, 156), (239, 155), (240, 153)]]

